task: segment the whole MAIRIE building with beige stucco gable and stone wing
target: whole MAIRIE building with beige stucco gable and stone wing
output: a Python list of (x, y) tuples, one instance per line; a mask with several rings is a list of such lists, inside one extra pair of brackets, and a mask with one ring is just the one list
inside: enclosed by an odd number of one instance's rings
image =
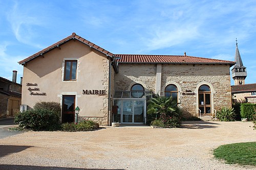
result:
[(143, 124), (153, 93), (173, 96), (187, 117), (231, 107), (232, 61), (113, 54), (73, 33), (19, 64), (24, 66), (24, 108), (58, 102), (62, 122), (74, 122), (79, 106), (79, 118), (101, 125)]

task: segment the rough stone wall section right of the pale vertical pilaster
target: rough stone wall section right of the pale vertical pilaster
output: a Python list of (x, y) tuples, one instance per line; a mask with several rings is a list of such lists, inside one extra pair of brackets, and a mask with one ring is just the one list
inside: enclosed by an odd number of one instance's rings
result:
[[(163, 65), (161, 95), (164, 95), (166, 85), (174, 83), (181, 88), (180, 106), (185, 114), (198, 115), (197, 93), (199, 86), (203, 84), (211, 87), (214, 109), (231, 107), (230, 74), (227, 65)], [(191, 95), (193, 92), (195, 95)]]

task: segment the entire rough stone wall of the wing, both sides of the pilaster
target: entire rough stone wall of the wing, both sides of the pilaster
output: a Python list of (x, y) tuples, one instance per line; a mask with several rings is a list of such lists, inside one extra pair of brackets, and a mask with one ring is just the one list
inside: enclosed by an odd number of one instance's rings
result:
[[(130, 90), (131, 84), (143, 82), (141, 84), (147, 90), (156, 93), (156, 74), (156, 64), (119, 63), (115, 89)], [(220, 110), (223, 106), (231, 107), (229, 65), (162, 64), (161, 79), (158, 80), (161, 81), (161, 95), (164, 95), (164, 89), (168, 84), (175, 84), (178, 87), (180, 106), (187, 116), (198, 116), (197, 92), (203, 84), (211, 88), (212, 109)], [(188, 95), (186, 90), (195, 92), (195, 94)]]

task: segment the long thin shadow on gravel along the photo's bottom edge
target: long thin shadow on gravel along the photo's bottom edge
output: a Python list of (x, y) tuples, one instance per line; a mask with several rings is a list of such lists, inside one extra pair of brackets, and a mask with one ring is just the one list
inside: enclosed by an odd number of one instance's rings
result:
[[(0, 169), (5, 169), (5, 170), (89, 170), (88, 168), (77, 168), (77, 167), (54, 167), (54, 166), (32, 166), (32, 165), (3, 165), (0, 164)], [(91, 169), (91, 168), (90, 168)], [(92, 168), (92, 170), (95, 168)], [(124, 170), (124, 169), (102, 169), (102, 170)]]

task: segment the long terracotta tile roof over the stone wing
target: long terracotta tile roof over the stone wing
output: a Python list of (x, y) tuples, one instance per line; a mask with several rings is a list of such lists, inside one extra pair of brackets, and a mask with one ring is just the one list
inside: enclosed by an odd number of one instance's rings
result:
[(236, 64), (233, 61), (216, 60), (192, 56), (166, 56), (166, 55), (131, 55), (131, 54), (116, 54), (120, 57), (119, 63), (182, 63), (182, 64)]

